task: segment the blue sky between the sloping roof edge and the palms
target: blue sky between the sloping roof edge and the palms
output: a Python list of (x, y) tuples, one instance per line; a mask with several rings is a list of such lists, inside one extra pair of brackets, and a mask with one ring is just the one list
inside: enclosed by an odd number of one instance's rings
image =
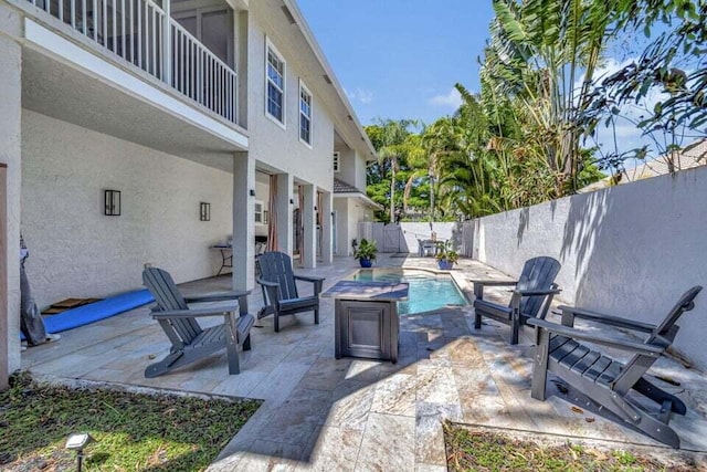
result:
[(298, 0), (362, 124), (431, 124), (460, 104), (456, 82), (478, 91), (493, 18), (485, 0)]

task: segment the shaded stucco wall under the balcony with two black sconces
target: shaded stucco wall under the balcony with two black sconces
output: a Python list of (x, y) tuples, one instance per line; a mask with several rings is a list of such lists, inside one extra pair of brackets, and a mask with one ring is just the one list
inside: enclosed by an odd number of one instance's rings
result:
[[(232, 175), (23, 109), (22, 233), (40, 306), (141, 286), (143, 264), (177, 282), (213, 275), (232, 231)], [(103, 191), (123, 214), (103, 214)], [(199, 202), (211, 221), (199, 221)]]

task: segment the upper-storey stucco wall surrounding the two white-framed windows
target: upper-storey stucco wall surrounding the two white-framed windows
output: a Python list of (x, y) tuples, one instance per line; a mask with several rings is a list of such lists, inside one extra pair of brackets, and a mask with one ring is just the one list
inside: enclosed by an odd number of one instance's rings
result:
[[(306, 66), (306, 51), (294, 46), (295, 27), (281, 30), (279, 8), (251, 3), (249, 28), (249, 135), (250, 154), (255, 159), (292, 174), (298, 180), (314, 183), (326, 191), (333, 190), (334, 124), (316, 84), (320, 77)], [(286, 61), (285, 128), (265, 115), (265, 36)], [(299, 80), (313, 94), (312, 148), (299, 141)]]

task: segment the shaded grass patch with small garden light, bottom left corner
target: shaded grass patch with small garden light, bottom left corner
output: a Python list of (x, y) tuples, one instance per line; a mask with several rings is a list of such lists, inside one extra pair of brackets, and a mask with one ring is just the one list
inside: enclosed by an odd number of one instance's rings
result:
[(11, 379), (0, 392), (0, 470), (71, 471), (64, 449), (74, 432), (86, 448), (85, 471), (199, 471), (205, 469), (257, 410), (255, 400), (150, 396)]

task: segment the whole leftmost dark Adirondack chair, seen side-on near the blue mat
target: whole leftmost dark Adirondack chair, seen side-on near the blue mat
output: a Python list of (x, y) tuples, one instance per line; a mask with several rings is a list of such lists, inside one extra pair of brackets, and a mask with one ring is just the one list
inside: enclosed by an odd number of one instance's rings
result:
[[(145, 377), (160, 376), (224, 347), (229, 374), (241, 371), (238, 347), (242, 345), (244, 350), (251, 349), (251, 326), (255, 322), (253, 315), (247, 314), (246, 295), (250, 292), (221, 292), (184, 298), (171, 275), (157, 268), (145, 269), (143, 283), (157, 302), (152, 318), (159, 322), (172, 343), (162, 360), (145, 369)], [(223, 316), (223, 324), (203, 329), (197, 318), (205, 316)]]

